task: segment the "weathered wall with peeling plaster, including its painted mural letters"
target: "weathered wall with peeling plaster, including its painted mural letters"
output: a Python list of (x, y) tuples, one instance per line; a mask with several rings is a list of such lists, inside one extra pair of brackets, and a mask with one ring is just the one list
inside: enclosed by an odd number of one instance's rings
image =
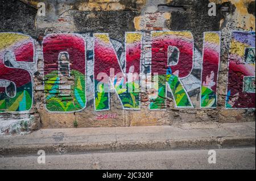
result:
[[(0, 1), (2, 132), (255, 119), (255, 1), (39, 2)], [(98, 94), (109, 68), (158, 73), (159, 90)]]

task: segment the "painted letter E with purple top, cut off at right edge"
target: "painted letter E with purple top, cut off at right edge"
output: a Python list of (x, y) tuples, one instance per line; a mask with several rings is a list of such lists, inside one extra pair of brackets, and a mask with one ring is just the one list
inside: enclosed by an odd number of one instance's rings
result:
[(226, 108), (255, 108), (255, 32), (232, 32)]

